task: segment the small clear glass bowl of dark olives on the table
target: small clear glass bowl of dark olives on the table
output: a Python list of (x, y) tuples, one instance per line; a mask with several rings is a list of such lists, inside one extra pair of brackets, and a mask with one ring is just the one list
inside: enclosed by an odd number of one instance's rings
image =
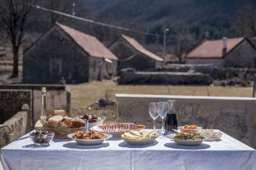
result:
[(29, 133), (29, 137), (32, 140), (32, 142), (36, 145), (48, 145), (52, 142), (52, 139), (54, 137), (54, 132), (52, 136), (48, 135), (33, 135), (33, 132)]

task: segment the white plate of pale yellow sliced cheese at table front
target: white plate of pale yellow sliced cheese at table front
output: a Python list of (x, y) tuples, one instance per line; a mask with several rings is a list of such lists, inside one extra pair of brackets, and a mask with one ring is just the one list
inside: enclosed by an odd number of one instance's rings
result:
[(159, 137), (157, 133), (151, 133), (148, 130), (125, 132), (121, 135), (121, 138), (130, 145), (146, 145), (152, 144), (155, 139)]

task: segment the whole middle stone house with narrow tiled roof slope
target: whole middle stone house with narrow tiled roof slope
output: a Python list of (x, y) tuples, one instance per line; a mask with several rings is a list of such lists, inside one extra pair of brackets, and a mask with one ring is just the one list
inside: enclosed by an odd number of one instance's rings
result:
[(136, 70), (161, 68), (163, 58), (145, 49), (132, 37), (121, 35), (108, 49), (118, 57), (118, 70), (132, 67)]

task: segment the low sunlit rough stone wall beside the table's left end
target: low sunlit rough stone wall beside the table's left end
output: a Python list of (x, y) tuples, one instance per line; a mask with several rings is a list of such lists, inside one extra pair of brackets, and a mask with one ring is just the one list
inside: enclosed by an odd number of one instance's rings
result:
[(17, 112), (9, 120), (0, 124), (0, 148), (22, 137), (32, 128), (30, 126), (29, 107)]

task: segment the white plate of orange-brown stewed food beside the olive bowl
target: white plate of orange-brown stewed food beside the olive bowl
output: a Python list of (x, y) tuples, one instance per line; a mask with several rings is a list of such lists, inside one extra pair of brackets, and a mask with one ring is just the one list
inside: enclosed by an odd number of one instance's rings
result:
[(77, 131), (68, 134), (68, 138), (75, 140), (78, 144), (82, 145), (96, 145), (101, 144), (106, 139), (111, 138), (111, 134), (100, 133), (94, 130), (90, 131)]

